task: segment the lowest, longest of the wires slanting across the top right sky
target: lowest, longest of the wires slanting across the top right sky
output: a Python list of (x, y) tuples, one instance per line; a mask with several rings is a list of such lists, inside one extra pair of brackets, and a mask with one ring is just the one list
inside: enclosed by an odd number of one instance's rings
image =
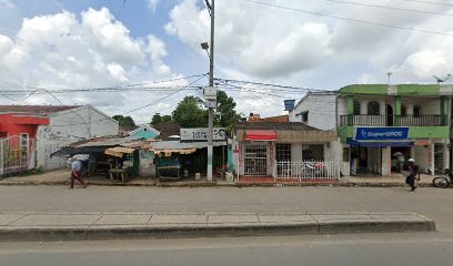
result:
[(284, 7), (284, 6), (280, 6), (280, 4), (260, 2), (260, 1), (254, 1), (254, 0), (243, 0), (243, 1), (250, 2), (250, 3), (255, 3), (255, 4), (261, 4), (261, 6), (266, 6), (266, 7), (272, 7), (272, 8), (278, 8), (278, 9), (283, 9), (283, 10), (291, 10), (291, 11), (319, 16), (319, 17), (344, 20), (344, 21), (354, 22), (354, 23), (378, 25), (378, 27), (391, 28), (391, 29), (395, 29), (395, 30), (415, 31), (415, 32), (422, 32), (422, 33), (435, 34), (435, 35), (453, 37), (453, 33), (447, 33), (447, 32), (442, 32), (442, 31), (423, 30), (423, 29), (409, 28), (409, 27), (402, 27), (402, 25), (386, 24), (386, 23), (381, 23), (381, 22), (365, 21), (365, 20), (360, 20), (360, 19), (350, 19), (350, 18), (344, 18), (344, 17), (339, 17), (339, 16), (333, 16), (333, 14), (313, 12), (313, 11), (309, 11), (309, 10), (304, 10), (304, 9), (290, 8), (290, 7)]

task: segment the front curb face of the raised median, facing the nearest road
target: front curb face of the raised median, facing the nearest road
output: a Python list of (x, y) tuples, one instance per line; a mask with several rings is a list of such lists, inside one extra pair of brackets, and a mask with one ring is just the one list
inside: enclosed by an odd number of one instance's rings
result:
[[(424, 218), (424, 217), (423, 217)], [(435, 223), (423, 221), (309, 222), (288, 224), (198, 224), (191, 226), (102, 226), (68, 228), (1, 228), (0, 242), (163, 239), (263, 235), (325, 235), (358, 233), (432, 232)]]

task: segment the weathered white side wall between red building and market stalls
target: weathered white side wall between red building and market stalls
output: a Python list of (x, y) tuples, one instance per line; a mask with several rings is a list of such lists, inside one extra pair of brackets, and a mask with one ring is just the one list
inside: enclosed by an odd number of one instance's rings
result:
[(37, 166), (46, 170), (64, 167), (66, 160), (50, 157), (50, 154), (80, 140), (118, 135), (118, 129), (117, 121), (90, 105), (53, 113), (49, 125), (38, 127)]

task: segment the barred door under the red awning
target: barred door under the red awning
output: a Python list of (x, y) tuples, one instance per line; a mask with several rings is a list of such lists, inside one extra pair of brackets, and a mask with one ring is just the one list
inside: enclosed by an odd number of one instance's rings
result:
[(268, 145), (245, 145), (245, 175), (265, 176), (268, 174)]

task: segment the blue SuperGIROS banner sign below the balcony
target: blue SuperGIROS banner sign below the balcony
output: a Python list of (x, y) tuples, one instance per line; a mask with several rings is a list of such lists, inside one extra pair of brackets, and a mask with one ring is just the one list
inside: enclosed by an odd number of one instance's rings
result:
[(409, 127), (356, 127), (355, 141), (406, 141)]

